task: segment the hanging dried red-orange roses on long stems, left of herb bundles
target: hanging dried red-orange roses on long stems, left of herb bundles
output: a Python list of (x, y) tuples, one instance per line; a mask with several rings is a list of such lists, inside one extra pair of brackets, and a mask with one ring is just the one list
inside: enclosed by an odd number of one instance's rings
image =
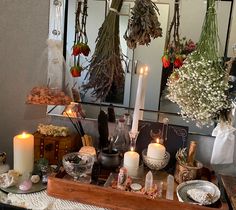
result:
[[(72, 47), (72, 56), (74, 56), (74, 64), (70, 69), (72, 77), (80, 77), (83, 67), (80, 64), (80, 56), (88, 56), (90, 48), (88, 46), (88, 38), (86, 33), (86, 20), (88, 0), (77, 1), (77, 9), (75, 12), (75, 38)], [(81, 20), (80, 20), (81, 17)]]

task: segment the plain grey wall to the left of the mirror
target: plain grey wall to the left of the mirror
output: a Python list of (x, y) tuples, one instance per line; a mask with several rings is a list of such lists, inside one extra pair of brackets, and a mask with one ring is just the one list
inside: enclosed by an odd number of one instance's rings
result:
[[(46, 47), (49, 0), (0, 0), (0, 150), (12, 163), (12, 138), (33, 132), (45, 118), (46, 107), (25, 104), (36, 81), (46, 80), (46, 69), (36, 64)], [(37, 75), (37, 78), (36, 78)]]

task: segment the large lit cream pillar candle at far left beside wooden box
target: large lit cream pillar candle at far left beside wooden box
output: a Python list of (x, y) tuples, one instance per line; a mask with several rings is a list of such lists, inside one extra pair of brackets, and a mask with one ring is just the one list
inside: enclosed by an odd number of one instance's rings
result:
[(30, 173), (34, 167), (34, 136), (29, 133), (22, 133), (13, 140), (14, 170), (23, 173)]

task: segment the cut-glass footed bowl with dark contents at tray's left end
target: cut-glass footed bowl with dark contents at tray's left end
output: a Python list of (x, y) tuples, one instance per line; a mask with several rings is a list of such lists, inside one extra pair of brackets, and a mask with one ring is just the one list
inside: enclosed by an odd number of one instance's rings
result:
[(92, 155), (81, 155), (78, 152), (68, 153), (62, 158), (63, 167), (74, 180), (91, 174), (94, 163)]

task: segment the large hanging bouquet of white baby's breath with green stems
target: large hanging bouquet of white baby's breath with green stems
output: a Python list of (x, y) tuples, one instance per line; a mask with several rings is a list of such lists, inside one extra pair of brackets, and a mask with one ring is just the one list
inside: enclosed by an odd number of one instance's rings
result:
[(197, 49), (168, 78), (167, 97), (178, 104), (181, 115), (212, 124), (228, 108), (228, 74), (218, 56), (215, 0), (207, 1), (207, 12)]

